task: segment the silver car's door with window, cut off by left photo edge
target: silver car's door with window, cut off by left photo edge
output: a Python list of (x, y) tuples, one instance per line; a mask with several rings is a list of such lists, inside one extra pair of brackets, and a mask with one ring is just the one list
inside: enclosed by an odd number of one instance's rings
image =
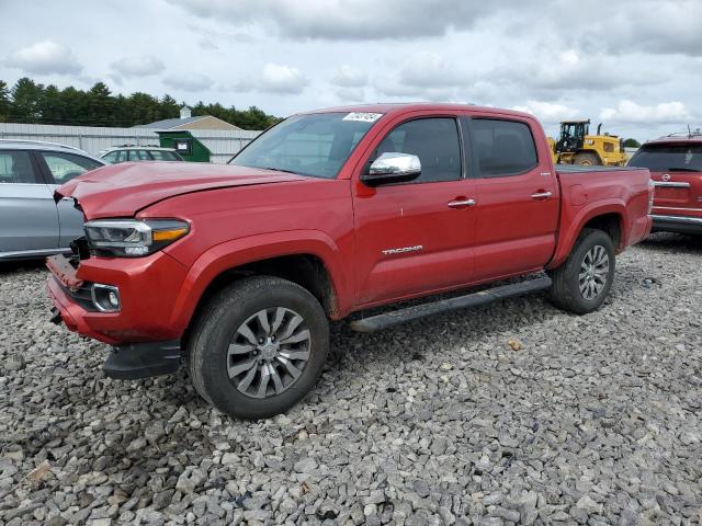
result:
[(52, 194), (31, 151), (0, 150), (0, 256), (58, 247)]

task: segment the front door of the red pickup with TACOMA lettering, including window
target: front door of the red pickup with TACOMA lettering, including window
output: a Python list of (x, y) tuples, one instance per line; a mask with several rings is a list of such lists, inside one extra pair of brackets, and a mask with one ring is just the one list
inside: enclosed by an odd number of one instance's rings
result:
[(410, 183), (374, 188), (354, 182), (358, 304), (468, 283), (475, 183), (464, 178), (456, 121), (428, 117), (399, 124), (365, 169), (384, 152), (418, 156), (421, 174)]

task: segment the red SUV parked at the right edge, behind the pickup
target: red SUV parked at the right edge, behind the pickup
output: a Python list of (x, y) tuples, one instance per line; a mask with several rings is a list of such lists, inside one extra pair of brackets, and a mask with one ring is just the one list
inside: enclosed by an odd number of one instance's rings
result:
[(702, 235), (702, 133), (642, 146), (630, 167), (647, 168), (656, 191), (653, 231)]

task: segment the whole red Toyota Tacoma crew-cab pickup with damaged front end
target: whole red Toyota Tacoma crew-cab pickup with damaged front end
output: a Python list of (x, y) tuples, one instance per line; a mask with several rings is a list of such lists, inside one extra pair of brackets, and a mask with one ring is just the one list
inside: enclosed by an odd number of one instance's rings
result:
[(528, 114), (381, 104), (294, 115), (228, 165), (123, 163), (60, 196), (87, 224), (47, 262), (55, 321), (114, 347), (110, 377), (184, 358), (205, 400), (263, 418), (314, 387), (329, 319), (518, 276), (352, 328), (540, 289), (597, 309), (650, 230), (653, 187), (645, 169), (554, 169)]

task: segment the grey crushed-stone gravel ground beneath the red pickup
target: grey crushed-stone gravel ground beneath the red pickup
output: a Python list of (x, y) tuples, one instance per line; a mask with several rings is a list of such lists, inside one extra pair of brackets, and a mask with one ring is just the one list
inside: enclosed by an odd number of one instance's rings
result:
[(700, 524), (702, 242), (657, 235), (576, 317), (542, 296), (377, 334), (288, 414), (113, 381), (0, 268), (0, 524)]

